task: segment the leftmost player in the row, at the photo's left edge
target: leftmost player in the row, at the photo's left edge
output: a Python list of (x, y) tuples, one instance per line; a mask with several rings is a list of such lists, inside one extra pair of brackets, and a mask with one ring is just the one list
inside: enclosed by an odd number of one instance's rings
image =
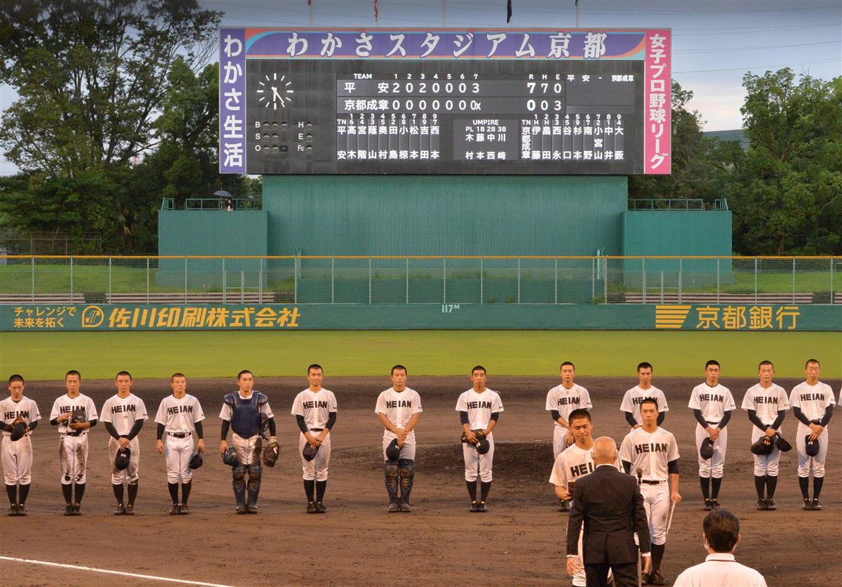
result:
[[(3, 480), (8, 494), (8, 515), (26, 515), (26, 496), (32, 483), (32, 430), (38, 427), (41, 414), (34, 400), (24, 396), (24, 378), (13, 375), (8, 378), (9, 397), (0, 402), (0, 430), (3, 430), (3, 446), (0, 446), (0, 462), (3, 462)], [(13, 440), (12, 435), (24, 435)], [(17, 437), (18, 434), (15, 434)]]

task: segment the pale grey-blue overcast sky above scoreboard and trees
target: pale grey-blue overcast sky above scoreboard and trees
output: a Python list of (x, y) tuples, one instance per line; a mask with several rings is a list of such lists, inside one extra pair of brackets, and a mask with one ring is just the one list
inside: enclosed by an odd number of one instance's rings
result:
[[(200, 0), (222, 24), (253, 27), (506, 27), (506, 0)], [(842, 0), (579, 0), (581, 28), (671, 28), (673, 78), (694, 93), (706, 131), (740, 128), (743, 75), (791, 67), (842, 75)], [(574, 0), (513, 0), (510, 26), (576, 26)], [(0, 88), (0, 109), (15, 94)], [(0, 173), (13, 171), (0, 159)]]

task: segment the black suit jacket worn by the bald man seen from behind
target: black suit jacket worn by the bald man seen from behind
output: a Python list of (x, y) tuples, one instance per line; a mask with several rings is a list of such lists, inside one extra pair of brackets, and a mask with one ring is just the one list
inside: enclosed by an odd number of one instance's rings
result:
[(649, 552), (649, 526), (637, 480), (610, 465), (600, 465), (573, 487), (568, 522), (568, 554), (577, 554), (584, 521), (582, 555), (585, 564), (636, 563), (637, 545)]

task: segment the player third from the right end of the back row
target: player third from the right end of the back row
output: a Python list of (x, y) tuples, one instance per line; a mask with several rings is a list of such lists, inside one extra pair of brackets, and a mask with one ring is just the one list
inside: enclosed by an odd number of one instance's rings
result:
[[(709, 360), (705, 363), (706, 380), (693, 387), (690, 403), (696, 422), (695, 447), (701, 451), (701, 443), (710, 438), (713, 456), (706, 459), (699, 452), (699, 484), (705, 499), (704, 510), (719, 507), (719, 488), (722, 487), (722, 473), (725, 470), (725, 451), (728, 445), (728, 431), (725, 426), (731, 413), (737, 408), (730, 390), (719, 384), (719, 363)], [(711, 487), (712, 485), (712, 487)]]

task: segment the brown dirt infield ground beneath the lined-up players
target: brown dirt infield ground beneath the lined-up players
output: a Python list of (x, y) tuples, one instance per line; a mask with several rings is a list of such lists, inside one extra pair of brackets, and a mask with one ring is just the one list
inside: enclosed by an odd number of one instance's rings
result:
[[(627, 428), (619, 412), (622, 393), (635, 383), (627, 378), (580, 377), (594, 401), (594, 432), (621, 440)], [(699, 381), (661, 378), (672, 411), (664, 427), (674, 433), (682, 453), (681, 488), (685, 500), (675, 510), (663, 574), (679, 572), (704, 559), (701, 547), (701, 492), (696, 476), (695, 421), (686, 402)], [(738, 406), (754, 382), (731, 379)], [(795, 380), (781, 380), (787, 389)], [(834, 390), (839, 382), (829, 382)], [(289, 409), (304, 387), (301, 379), (260, 379), (278, 420), (282, 452), (278, 466), (264, 476), (260, 514), (234, 514), (230, 469), (213, 455), (195, 476), (190, 497), (192, 515), (170, 517), (163, 456), (154, 448), (154, 424), (141, 432), (141, 489), (133, 518), (111, 515), (114, 497), (109, 483), (106, 432), (90, 435), (88, 491), (83, 517), (61, 515), (56, 430), (46, 417), (63, 390), (61, 382), (31, 382), (27, 395), (39, 403), (45, 420), (35, 431), (33, 489), (29, 516), (0, 517), (0, 554), (58, 563), (116, 569), (137, 574), (208, 581), (219, 584), (569, 584), (564, 572), (567, 519), (556, 511), (552, 486), (552, 423), (544, 411), (552, 377), (489, 377), (500, 392), (505, 412), (494, 431), (494, 484), (490, 512), (467, 512), (460, 425), (454, 407), (470, 387), (467, 377), (415, 377), (424, 416), (417, 429), (418, 462), (413, 513), (386, 514), (381, 462), (382, 429), (374, 415), (385, 377), (328, 377), (336, 392), (338, 422), (327, 515), (304, 512), (301, 468), (296, 453), (297, 428)], [(232, 381), (188, 382), (205, 408), (205, 435), (218, 451), (217, 414)], [(169, 393), (167, 381), (137, 381), (151, 419)], [(83, 392), (97, 406), (115, 392), (111, 382), (83, 382)], [(837, 415), (836, 419), (842, 416)], [(782, 458), (778, 510), (759, 512), (748, 451), (750, 424), (738, 410), (729, 424), (729, 452), (721, 501), (742, 521), (738, 560), (757, 568), (770, 585), (839, 584), (839, 536), (842, 529), (842, 435), (832, 423), (824, 510), (803, 512), (797, 487), (797, 456)], [(794, 442), (795, 421), (784, 431)], [(5, 496), (3, 496), (5, 499)], [(3, 502), (4, 503), (4, 502)], [(111, 582), (108, 575), (70, 572), (3, 561), (3, 584)], [(120, 579), (125, 582), (125, 579)], [(131, 584), (152, 584), (131, 580)]]

